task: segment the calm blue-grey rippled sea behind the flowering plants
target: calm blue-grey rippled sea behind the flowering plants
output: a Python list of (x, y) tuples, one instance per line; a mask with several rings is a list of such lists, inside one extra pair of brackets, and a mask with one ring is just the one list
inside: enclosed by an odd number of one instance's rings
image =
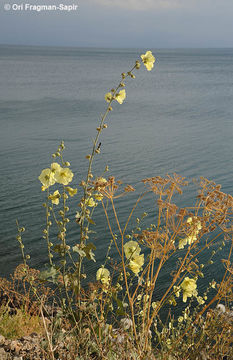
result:
[[(38, 176), (63, 139), (66, 160), (76, 174), (72, 185), (80, 183), (86, 173), (85, 155), (105, 109), (104, 95), (141, 53), (141, 49), (0, 46), (0, 276), (8, 276), (21, 261), (16, 219), (26, 228), (25, 251), (31, 264), (42, 268), (46, 263), (44, 193)], [(137, 194), (146, 177), (176, 172), (192, 181), (205, 176), (233, 195), (233, 49), (153, 53), (157, 57), (153, 71), (141, 68), (135, 80), (127, 81), (124, 104), (114, 104), (95, 173), (109, 165), (111, 175), (136, 186)], [(192, 205), (195, 194), (191, 185), (177, 201)], [(132, 194), (118, 202), (122, 221), (136, 197)], [(72, 219), (78, 199), (70, 208)], [(151, 197), (136, 215), (144, 211), (149, 213), (145, 225), (150, 224), (155, 214)], [(97, 264), (87, 267), (90, 279), (103, 262), (110, 239), (101, 209), (97, 217), (98, 234), (92, 235)], [(71, 245), (77, 231), (71, 222)], [(219, 258), (228, 251), (226, 246)], [(162, 275), (165, 282), (172, 266)], [(221, 265), (210, 266), (209, 279), (221, 271)]]

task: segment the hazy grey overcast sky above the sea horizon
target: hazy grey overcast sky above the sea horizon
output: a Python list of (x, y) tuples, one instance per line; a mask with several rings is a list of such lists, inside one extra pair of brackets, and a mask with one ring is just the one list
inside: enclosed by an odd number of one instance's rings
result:
[[(26, 3), (78, 7), (38, 12)], [(233, 47), (233, 0), (0, 0), (0, 44)]]

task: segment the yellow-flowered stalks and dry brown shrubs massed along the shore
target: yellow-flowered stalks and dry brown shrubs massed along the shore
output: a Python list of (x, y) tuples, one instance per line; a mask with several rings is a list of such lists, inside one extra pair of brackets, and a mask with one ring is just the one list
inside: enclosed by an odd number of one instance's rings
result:
[[(0, 333), (8, 338), (40, 334), (45, 359), (233, 358), (233, 197), (222, 192), (220, 185), (201, 178), (195, 205), (179, 207), (177, 199), (188, 181), (177, 174), (155, 176), (142, 179), (145, 190), (122, 221), (118, 199), (135, 189), (107, 176), (108, 167), (102, 174), (92, 171), (101, 152), (99, 138), (107, 129), (107, 116), (116, 102), (125, 101), (125, 81), (135, 78), (141, 63), (152, 70), (155, 58), (151, 51), (123, 72), (119, 84), (105, 95), (107, 106), (86, 155), (86, 178), (78, 186), (71, 185), (76, 178), (64, 159), (63, 141), (39, 175), (45, 198), (46, 270), (29, 267), (30, 256), (25, 255), (22, 241), (25, 229), (17, 222), (23, 264), (11, 281), (0, 282), (6, 300), (0, 311)], [(145, 225), (148, 214), (135, 214), (148, 196), (155, 201), (154, 222)], [(79, 197), (75, 244), (69, 242), (71, 197)], [(95, 209), (100, 206), (110, 242), (93, 281), (86, 269), (88, 261), (96, 262), (91, 239)], [(51, 235), (54, 229), (56, 237)], [(229, 250), (222, 259), (223, 276), (207, 281), (203, 289), (202, 278), (209, 276), (216, 254), (225, 245)], [(171, 268), (168, 273), (166, 269)], [(164, 271), (170, 282), (161, 290)], [(11, 315), (10, 305), (15, 307)]]

